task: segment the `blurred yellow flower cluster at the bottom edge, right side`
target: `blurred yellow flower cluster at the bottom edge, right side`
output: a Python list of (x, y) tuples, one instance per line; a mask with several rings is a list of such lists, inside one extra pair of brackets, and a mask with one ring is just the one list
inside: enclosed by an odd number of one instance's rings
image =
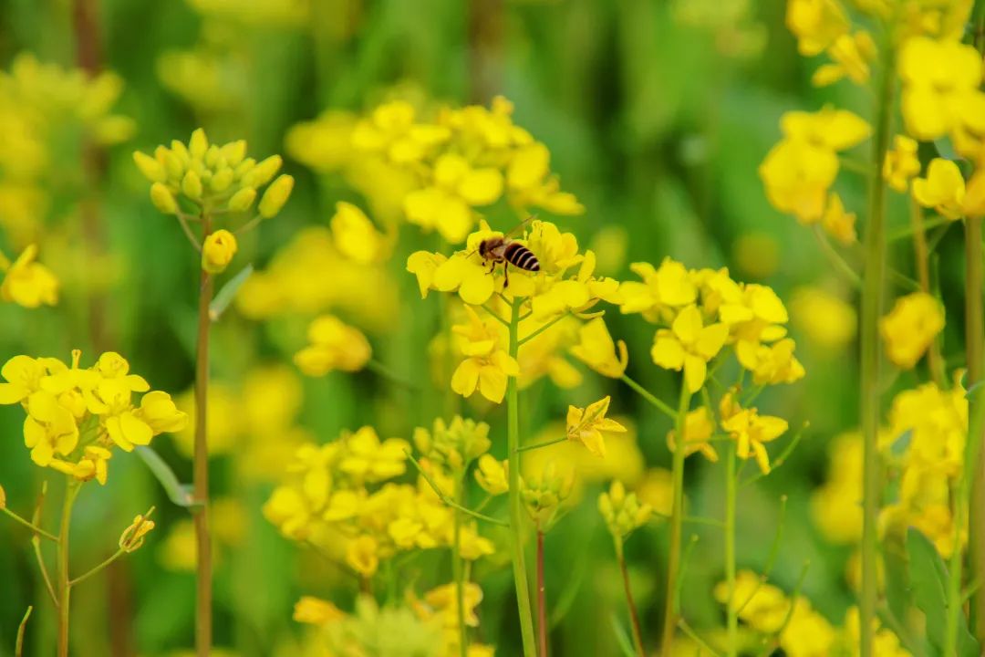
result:
[[(715, 599), (729, 605), (739, 620), (751, 629), (775, 641), (775, 645), (790, 657), (859, 654), (859, 613), (852, 607), (845, 615), (843, 626), (831, 624), (801, 595), (788, 597), (781, 589), (769, 584), (751, 570), (740, 571), (736, 577), (735, 595), (729, 600), (725, 582), (715, 586)], [(878, 657), (908, 657), (899, 638), (878, 624), (874, 631), (873, 655)]]

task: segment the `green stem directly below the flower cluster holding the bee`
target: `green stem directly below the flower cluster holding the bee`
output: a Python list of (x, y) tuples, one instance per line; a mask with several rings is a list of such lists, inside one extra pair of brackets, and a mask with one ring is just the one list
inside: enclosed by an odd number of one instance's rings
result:
[[(509, 321), (509, 355), (515, 359), (520, 345), (517, 338), (522, 300), (513, 299)], [(509, 458), (509, 526), (510, 550), (513, 553), (513, 583), (516, 587), (516, 606), (520, 614), (520, 634), (523, 654), (536, 657), (537, 640), (534, 618), (530, 610), (530, 587), (527, 584), (527, 565), (523, 555), (523, 501), (520, 499), (520, 409), (516, 377), (506, 383), (506, 453)], [(542, 655), (541, 657), (547, 657)]]

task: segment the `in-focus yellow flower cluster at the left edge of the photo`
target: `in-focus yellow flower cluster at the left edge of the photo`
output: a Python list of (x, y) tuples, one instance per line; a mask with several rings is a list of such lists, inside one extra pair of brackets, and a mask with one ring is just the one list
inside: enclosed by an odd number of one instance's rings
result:
[[(71, 365), (15, 356), (0, 369), (6, 381), (0, 383), (0, 404), (21, 404), (28, 414), (24, 441), (35, 464), (105, 484), (114, 446), (132, 451), (147, 445), (159, 433), (184, 427), (187, 416), (167, 393), (149, 392), (119, 354), (106, 352), (87, 368), (79, 366), (81, 356), (73, 352)], [(146, 393), (139, 406), (135, 392)]]

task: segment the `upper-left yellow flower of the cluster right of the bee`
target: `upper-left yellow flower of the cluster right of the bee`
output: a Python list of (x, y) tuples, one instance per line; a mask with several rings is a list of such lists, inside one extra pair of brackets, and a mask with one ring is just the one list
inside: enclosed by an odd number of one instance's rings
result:
[(680, 262), (665, 258), (659, 269), (648, 262), (633, 263), (629, 269), (643, 282), (626, 281), (620, 286), (620, 310), (624, 314), (641, 312), (648, 321), (656, 322), (663, 310), (688, 305), (697, 298), (688, 270)]

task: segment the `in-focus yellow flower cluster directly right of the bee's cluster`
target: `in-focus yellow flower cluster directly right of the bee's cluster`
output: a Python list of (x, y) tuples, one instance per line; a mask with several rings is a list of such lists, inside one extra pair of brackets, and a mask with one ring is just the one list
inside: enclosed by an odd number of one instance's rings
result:
[[(670, 258), (659, 268), (635, 263), (630, 269), (643, 280), (620, 286), (620, 307), (667, 327), (657, 329), (650, 354), (661, 367), (683, 370), (691, 393), (704, 385), (708, 362), (727, 345), (756, 385), (804, 376), (794, 341), (786, 337), (786, 307), (770, 288), (737, 283), (726, 269), (688, 270)], [(615, 358), (611, 344), (611, 338), (595, 344), (600, 358)]]

